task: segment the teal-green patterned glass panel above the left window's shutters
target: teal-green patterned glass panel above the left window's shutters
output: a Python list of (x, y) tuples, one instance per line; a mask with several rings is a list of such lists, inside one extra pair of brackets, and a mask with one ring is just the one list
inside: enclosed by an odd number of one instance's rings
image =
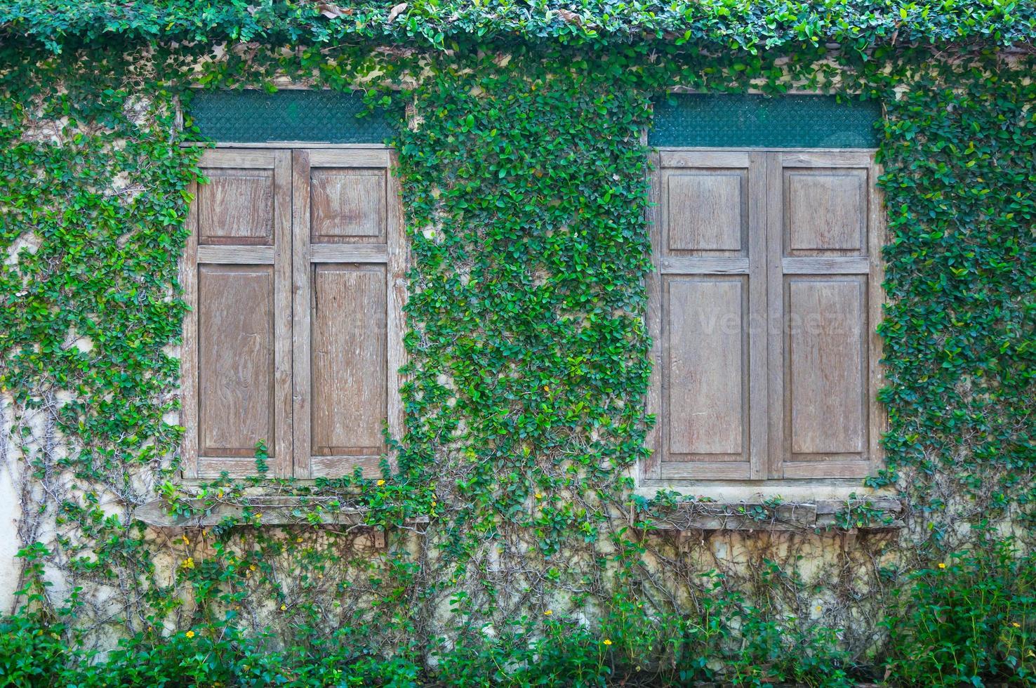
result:
[(364, 114), (361, 95), (340, 91), (198, 90), (189, 112), (203, 137), (220, 142), (384, 143), (393, 135), (383, 113)]

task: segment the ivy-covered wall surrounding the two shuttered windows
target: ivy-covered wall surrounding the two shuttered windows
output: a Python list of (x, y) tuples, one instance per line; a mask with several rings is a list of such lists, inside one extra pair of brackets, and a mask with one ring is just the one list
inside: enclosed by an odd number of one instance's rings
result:
[[(0, 9), (0, 459), (22, 549), (4, 679), (1033, 682), (1031, 8), (400, 7)], [(399, 470), (179, 486), (182, 102), (284, 81), (363, 85), (396, 122)], [(869, 483), (905, 527), (855, 533), (864, 503), (770, 532), (774, 500), (758, 532), (687, 538), (656, 529), (678, 496), (634, 494), (641, 137), (675, 85), (882, 102), (889, 468)], [(322, 499), (277, 527), (248, 506), (184, 531), (133, 516), (260, 492)], [(312, 524), (351, 508), (386, 548)]]

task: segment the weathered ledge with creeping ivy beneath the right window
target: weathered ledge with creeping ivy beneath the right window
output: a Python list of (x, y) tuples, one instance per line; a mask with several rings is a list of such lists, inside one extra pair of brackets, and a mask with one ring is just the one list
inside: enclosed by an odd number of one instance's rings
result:
[(652, 518), (651, 529), (888, 531), (903, 527), (902, 504), (892, 497), (813, 501), (683, 501)]

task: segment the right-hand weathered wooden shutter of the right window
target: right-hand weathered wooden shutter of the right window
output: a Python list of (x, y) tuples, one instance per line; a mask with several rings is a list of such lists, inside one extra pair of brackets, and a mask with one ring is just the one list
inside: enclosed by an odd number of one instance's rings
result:
[(770, 475), (860, 478), (881, 427), (871, 156), (778, 152), (768, 164)]

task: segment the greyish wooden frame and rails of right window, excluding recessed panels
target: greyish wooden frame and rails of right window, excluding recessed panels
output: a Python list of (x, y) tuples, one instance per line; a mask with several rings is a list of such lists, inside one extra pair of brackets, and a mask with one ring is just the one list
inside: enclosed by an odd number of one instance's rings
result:
[[(785, 487), (793, 491), (800, 488), (810, 489), (814, 487), (858, 488), (862, 486), (863, 479), (858, 475), (844, 477), (837, 475), (841, 469), (835, 467), (830, 476), (825, 477), (789, 477), (781, 465), (784, 456), (785, 442), (785, 401), (783, 399), (784, 381), (787, 366), (783, 361), (785, 355), (783, 342), (783, 282), (785, 275), (792, 274), (824, 274), (827, 276), (836, 275), (859, 275), (867, 280), (866, 298), (867, 305), (865, 315), (867, 319), (865, 337), (867, 343), (867, 369), (868, 376), (864, 380), (867, 389), (868, 403), (865, 405), (867, 419), (865, 428), (867, 432), (867, 467), (870, 474), (880, 469), (884, 465), (884, 454), (881, 448), (881, 436), (887, 426), (887, 414), (884, 406), (877, 401), (876, 393), (884, 385), (884, 370), (881, 365), (883, 343), (877, 335), (876, 326), (882, 320), (883, 306), (886, 303), (886, 294), (882, 287), (884, 281), (884, 266), (882, 261), (882, 248), (886, 242), (886, 224), (881, 191), (876, 187), (876, 179), (881, 174), (881, 167), (874, 161), (875, 149), (826, 149), (826, 148), (701, 148), (701, 147), (660, 147), (653, 150), (651, 154), (651, 204), (648, 209), (648, 220), (650, 224), (652, 243), (652, 273), (648, 278), (648, 325), (652, 338), (652, 376), (646, 398), (646, 410), (656, 417), (656, 423), (648, 432), (646, 443), (651, 450), (651, 455), (645, 460), (638, 463), (635, 472), (637, 484), (640, 489), (651, 491), (655, 489), (688, 489), (700, 487), (730, 488), (736, 490), (733, 494), (740, 494), (738, 490), (747, 487), (752, 490), (768, 487)], [(663, 309), (662, 297), (667, 273), (680, 275), (680, 270), (686, 268), (680, 263), (693, 259), (664, 257), (661, 255), (661, 248), (664, 246), (663, 231), (665, 228), (666, 207), (663, 203), (663, 180), (666, 170), (672, 166), (663, 167), (664, 163), (670, 163), (679, 157), (681, 153), (693, 153), (694, 155), (715, 155), (718, 165), (723, 164), (724, 157), (731, 155), (741, 156), (749, 170), (758, 170), (761, 167), (764, 177), (761, 180), (753, 180), (756, 183), (761, 181), (767, 185), (767, 192), (762, 195), (765, 203), (769, 206), (762, 208), (757, 198), (749, 197), (749, 237), (748, 237), (748, 259), (724, 259), (724, 258), (701, 258), (700, 263), (711, 262), (713, 264), (697, 265), (693, 274), (706, 275), (760, 275), (766, 276), (765, 280), (755, 280), (749, 284), (749, 298), (754, 303), (749, 307), (749, 315), (758, 315), (755, 311), (761, 307), (762, 317), (766, 322), (767, 337), (754, 337), (749, 343), (750, 364), (748, 367), (749, 386), (752, 398), (762, 398), (765, 405), (751, 404), (749, 408), (750, 427), (750, 466), (748, 475), (738, 474), (729, 470), (727, 466), (720, 463), (704, 464), (701, 470), (682, 471), (664, 470), (662, 462), (663, 435), (665, 423), (663, 377)], [(668, 159), (668, 160), (666, 160)], [(778, 161), (774, 164), (773, 161)], [(775, 231), (774, 223), (782, 223), (782, 198), (770, 193), (772, 184), (782, 184), (783, 168), (786, 163), (794, 166), (811, 167), (822, 166), (827, 168), (852, 167), (867, 169), (867, 228), (866, 236), (866, 265), (860, 263), (860, 259), (835, 259), (825, 266), (823, 273), (816, 273), (809, 266), (799, 265), (794, 258), (785, 258), (782, 255), (782, 242), (771, 240)], [(749, 162), (752, 164), (749, 166)], [(760, 166), (760, 162), (762, 163)], [(751, 174), (751, 172), (749, 172)], [(778, 187), (780, 188), (780, 187)], [(775, 202), (775, 198), (777, 199)], [(762, 263), (760, 265), (760, 262)], [(798, 273), (799, 269), (802, 273)], [(758, 284), (755, 284), (758, 282)], [(776, 291), (775, 291), (776, 290)], [(760, 292), (761, 295), (760, 295)], [(773, 294), (780, 294), (780, 298), (773, 297)], [(771, 346), (770, 340), (774, 337), (774, 322), (779, 323), (777, 327), (778, 337), (781, 338), (780, 346)], [(762, 340), (761, 342), (758, 340)], [(756, 362), (764, 360), (764, 365), (756, 365)], [(761, 369), (761, 371), (760, 371)], [(778, 379), (780, 378), (780, 379)], [(764, 390), (759, 390), (761, 386)], [(762, 437), (759, 435), (762, 434)], [(760, 441), (762, 440), (762, 441)], [(686, 464), (675, 464), (686, 465)], [(713, 470), (713, 475), (710, 475)]]

